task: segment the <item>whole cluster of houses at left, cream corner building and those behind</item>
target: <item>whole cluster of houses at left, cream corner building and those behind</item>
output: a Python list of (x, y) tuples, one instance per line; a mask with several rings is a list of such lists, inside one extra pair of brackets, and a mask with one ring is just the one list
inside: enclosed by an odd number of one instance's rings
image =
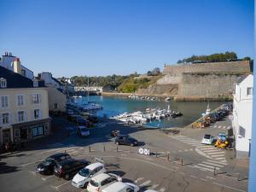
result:
[(11, 53), (0, 57), (0, 144), (49, 135), (50, 112), (66, 111), (64, 85), (51, 73), (33, 72)]

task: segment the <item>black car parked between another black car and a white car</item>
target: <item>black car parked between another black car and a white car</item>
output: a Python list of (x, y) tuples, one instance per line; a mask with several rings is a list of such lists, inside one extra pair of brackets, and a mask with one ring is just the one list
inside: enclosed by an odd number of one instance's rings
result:
[(55, 176), (64, 177), (65, 179), (71, 178), (77, 174), (84, 166), (88, 166), (90, 161), (87, 160), (64, 160), (56, 164)]

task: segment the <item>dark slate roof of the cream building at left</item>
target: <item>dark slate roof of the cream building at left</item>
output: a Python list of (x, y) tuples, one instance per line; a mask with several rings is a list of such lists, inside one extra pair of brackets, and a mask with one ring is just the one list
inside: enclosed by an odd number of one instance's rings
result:
[[(0, 89), (11, 89), (11, 88), (33, 88), (33, 82), (19, 73), (15, 73), (5, 67), (0, 66), (0, 79), (6, 79), (7, 87)], [(42, 84), (40, 84), (42, 86)], [(38, 86), (40, 86), (38, 85)]]

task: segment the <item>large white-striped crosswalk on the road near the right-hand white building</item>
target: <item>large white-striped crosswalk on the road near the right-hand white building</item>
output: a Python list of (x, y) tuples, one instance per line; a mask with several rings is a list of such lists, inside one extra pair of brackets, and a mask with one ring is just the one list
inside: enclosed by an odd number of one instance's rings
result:
[(224, 166), (227, 166), (227, 160), (225, 159), (225, 152), (220, 148), (215, 148), (212, 145), (203, 145), (200, 141), (184, 137), (184, 136), (175, 136), (172, 137), (179, 142), (189, 144), (195, 147), (195, 151), (207, 157), (207, 160), (202, 161), (194, 166), (194, 168), (198, 168), (201, 171), (214, 172), (219, 171)]

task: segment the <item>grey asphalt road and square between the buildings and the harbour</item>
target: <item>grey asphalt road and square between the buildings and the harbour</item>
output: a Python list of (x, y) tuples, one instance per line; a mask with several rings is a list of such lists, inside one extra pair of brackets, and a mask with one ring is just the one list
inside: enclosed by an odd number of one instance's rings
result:
[[(53, 175), (42, 176), (35, 172), (39, 161), (50, 154), (65, 150), (75, 159), (94, 162), (95, 158), (102, 158), (108, 172), (118, 174), (125, 182), (137, 183), (140, 191), (247, 191), (247, 179), (244, 179), (247, 173), (238, 176), (232, 172), (235, 164), (235, 160), (230, 159), (232, 152), (200, 143), (205, 133), (216, 136), (219, 131), (227, 131), (229, 125), (229, 120), (225, 120), (206, 130), (186, 129), (181, 131), (181, 135), (172, 136), (159, 130), (141, 130), (136, 125), (102, 122), (90, 131), (91, 136), (88, 138), (78, 137), (72, 128), (68, 128), (70, 125), (67, 125), (63, 128), (71, 134), (61, 142), (47, 144), (44, 141), (42, 145), (29, 150), (1, 154), (0, 191), (85, 192), (86, 189), (74, 188), (70, 181)], [(117, 152), (116, 145), (109, 141), (112, 130), (136, 137), (141, 141), (140, 146), (119, 146)], [(151, 155), (137, 154), (140, 147), (149, 148)]]

